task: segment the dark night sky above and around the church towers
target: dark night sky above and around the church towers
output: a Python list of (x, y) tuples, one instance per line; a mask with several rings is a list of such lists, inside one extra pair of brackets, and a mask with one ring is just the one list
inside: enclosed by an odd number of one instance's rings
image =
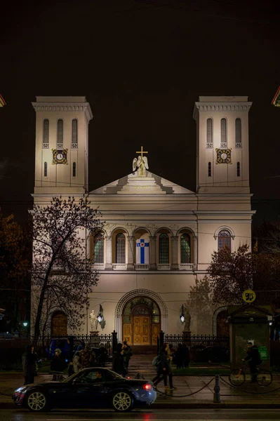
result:
[(153, 173), (193, 190), (194, 101), (248, 95), (254, 218), (280, 214), (280, 109), (270, 104), (280, 85), (279, 2), (10, 3), (0, 39), (4, 213), (24, 221), (32, 204), (36, 95), (86, 95), (91, 190), (130, 173), (140, 145)]

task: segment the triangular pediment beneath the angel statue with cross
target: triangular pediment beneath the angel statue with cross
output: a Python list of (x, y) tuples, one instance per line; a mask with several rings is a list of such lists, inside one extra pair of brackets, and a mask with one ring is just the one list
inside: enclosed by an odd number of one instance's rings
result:
[(145, 177), (131, 173), (93, 190), (90, 194), (195, 194), (159, 175), (147, 171)]

